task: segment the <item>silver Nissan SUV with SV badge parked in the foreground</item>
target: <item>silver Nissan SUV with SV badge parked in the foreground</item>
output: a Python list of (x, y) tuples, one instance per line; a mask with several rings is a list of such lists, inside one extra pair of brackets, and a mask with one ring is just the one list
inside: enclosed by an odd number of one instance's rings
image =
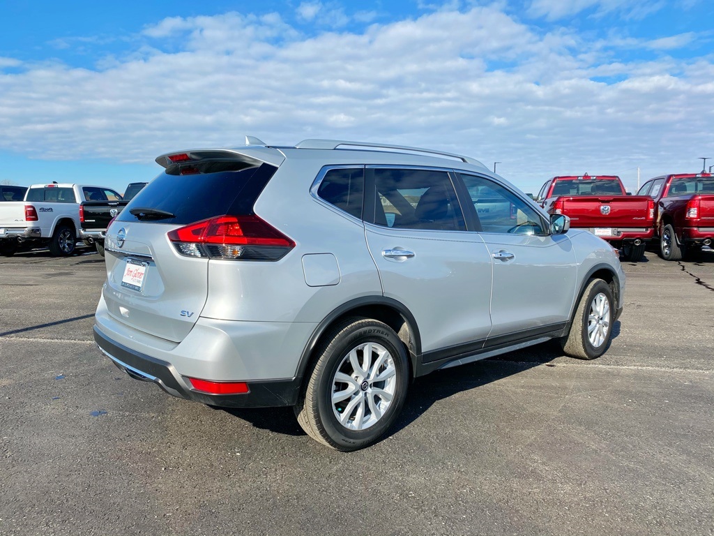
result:
[(593, 359), (622, 311), (606, 242), (468, 157), (306, 140), (172, 152), (106, 235), (99, 348), (221, 407), (376, 442), (411, 379), (548, 339)]

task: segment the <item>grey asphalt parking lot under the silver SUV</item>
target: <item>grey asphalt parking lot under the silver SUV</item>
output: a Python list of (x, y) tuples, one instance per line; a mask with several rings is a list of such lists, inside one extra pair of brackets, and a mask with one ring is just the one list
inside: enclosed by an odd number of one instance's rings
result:
[(310, 440), (94, 347), (104, 259), (0, 257), (1, 535), (714, 534), (714, 252), (625, 263), (593, 362), (554, 344), (436, 372), (388, 438)]

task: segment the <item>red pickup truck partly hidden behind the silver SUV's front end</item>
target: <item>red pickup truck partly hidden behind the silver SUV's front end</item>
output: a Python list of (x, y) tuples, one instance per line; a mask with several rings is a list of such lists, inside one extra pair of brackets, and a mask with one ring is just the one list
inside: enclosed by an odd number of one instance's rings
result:
[(553, 177), (535, 199), (548, 214), (565, 214), (570, 227), (588, 229), (614, 247), (623, 258), (638, 261), (654, 234), (655, 203), (646, 195), (625, 191), (615, 175)]

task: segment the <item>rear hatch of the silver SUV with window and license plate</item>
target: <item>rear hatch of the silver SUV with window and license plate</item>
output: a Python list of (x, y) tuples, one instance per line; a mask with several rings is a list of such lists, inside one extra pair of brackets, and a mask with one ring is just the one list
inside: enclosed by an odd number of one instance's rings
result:
[[(206, 222), (226, 214), (251, 218), (253, 204), (277, 167), (228, 150), (170, 154), (157, 162), (166, 171), (129, 202), (107, 231), (104, 299), (117, 321), (180, 342), (201, 315), (208, 262), (223, 247), (212, 243), (209, 251), (208, 244), (199, 243), (205, 242)], [(214, 238), (216, 229), (229, 234), (240, 223), (221, 227), (221, 222), (208, 226)]]

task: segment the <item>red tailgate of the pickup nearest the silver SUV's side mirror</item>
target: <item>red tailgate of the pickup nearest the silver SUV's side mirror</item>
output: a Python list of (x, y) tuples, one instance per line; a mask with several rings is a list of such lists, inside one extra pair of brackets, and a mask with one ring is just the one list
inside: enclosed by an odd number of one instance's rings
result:
[(563, 197), (562, 213), (573, 227), (651, 227), (654, 203), (648, 196)]

